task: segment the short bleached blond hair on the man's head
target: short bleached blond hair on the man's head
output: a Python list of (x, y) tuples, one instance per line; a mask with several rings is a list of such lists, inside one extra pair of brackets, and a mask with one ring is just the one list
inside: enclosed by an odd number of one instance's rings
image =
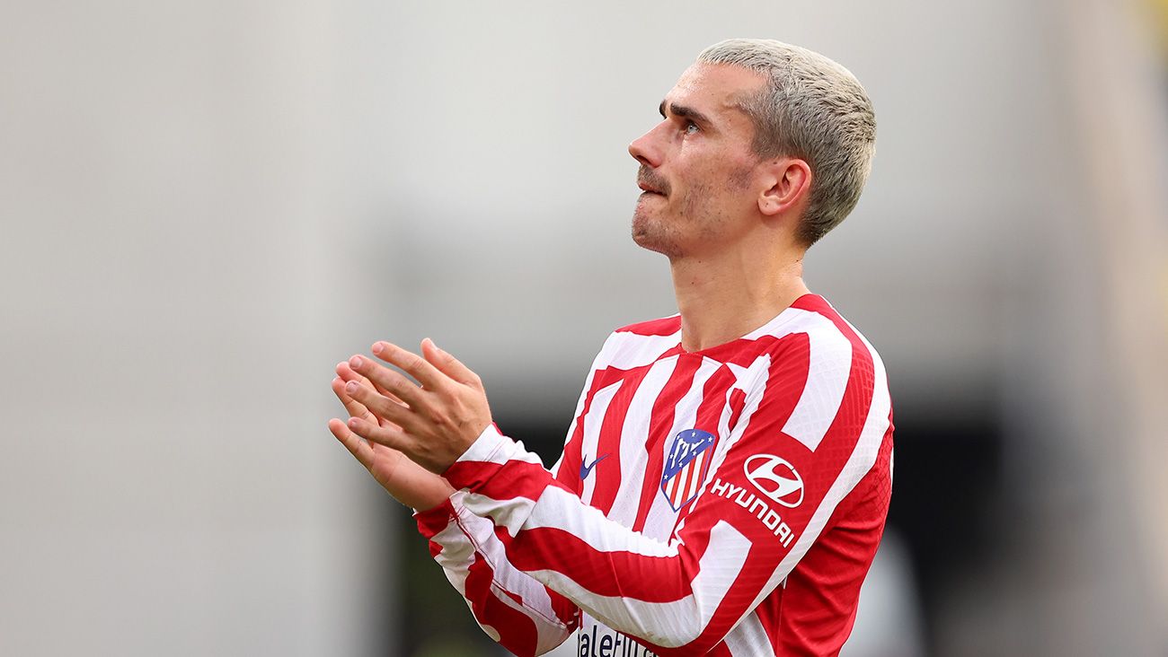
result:
[(697, 61), (730, 64), (770, 79), (738, 99), (755, 125), (760, 159), (791, 156), (811, 166), (807, 210), (797, 238), (811, 246), (851, 212), (876, 149), (876, 114), (856, 76), (827, 57), (766, 39), (715, 43)]

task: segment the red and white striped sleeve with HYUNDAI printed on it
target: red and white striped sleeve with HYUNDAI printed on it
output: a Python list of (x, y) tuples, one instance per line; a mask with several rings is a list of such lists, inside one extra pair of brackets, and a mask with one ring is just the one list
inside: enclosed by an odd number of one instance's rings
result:
[(659, 655), (724, 645), (891, 449), (883, 365), (870, 345), (840, 322), (792, 331), (767, 337), (773, 348), (738, 368), (756, 376), (726, 391), (710, 474), (669, 540), (585, 504), (494, 426), (445, 473), (463, 491), (458, 517), (491, 525), (474, 530), (498, 539), (488, 561), (522, 571)]

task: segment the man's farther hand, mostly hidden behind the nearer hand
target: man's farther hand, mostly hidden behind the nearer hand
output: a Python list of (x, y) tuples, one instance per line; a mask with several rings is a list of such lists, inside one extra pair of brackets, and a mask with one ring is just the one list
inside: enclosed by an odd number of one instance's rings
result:
[[(369, 379), (354, 372), (345, 362), (338, 363), (336, 375), (332, 385), (333, 393), (341, 400), (350, 417), (381, 426), (392, 426), (388, 421), (378, 420), (364, 405), (345, 391), (347, 383), (355, 382), (362, 387), (378, 392)], [(392, 394), (387, 391), (380, 391), (380, 393), (392, 398)], [(335, 418), (329, 420), (328, 429), (369, 470), (377, 483), (402, 504), (425, 511), (442, 504), (454, 492), (446, 480), (410, 461), (396, 449), (369, 442), (354, 434), (343, 421)]]

